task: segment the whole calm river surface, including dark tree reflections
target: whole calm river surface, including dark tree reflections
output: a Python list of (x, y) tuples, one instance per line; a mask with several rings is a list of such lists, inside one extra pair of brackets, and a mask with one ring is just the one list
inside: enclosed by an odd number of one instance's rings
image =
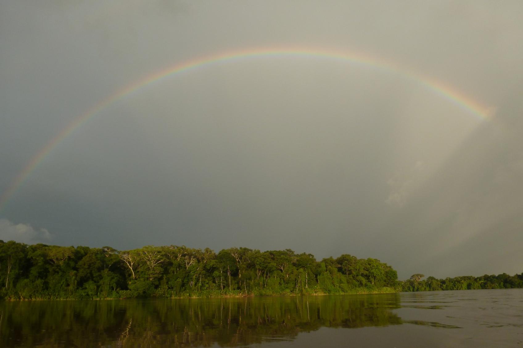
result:
[(523, 347), (523, 289), (0, 303), (2, 347)]

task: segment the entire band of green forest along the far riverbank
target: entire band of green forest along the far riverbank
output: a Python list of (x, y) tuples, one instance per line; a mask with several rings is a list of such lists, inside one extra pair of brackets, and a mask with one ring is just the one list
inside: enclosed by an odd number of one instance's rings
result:
[(290, 249), (259, 251), (185, 246), (26, 245), (0, 240), (0, 298), (127, 298), (350, 294), (523, 287), (523, 273), (437, 280), (397, 272), (377, 259), (349, 254), (316, 261)]

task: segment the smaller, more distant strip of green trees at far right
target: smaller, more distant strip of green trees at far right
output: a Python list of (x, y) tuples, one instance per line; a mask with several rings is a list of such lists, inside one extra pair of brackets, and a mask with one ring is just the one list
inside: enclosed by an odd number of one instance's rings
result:
[(423, 274), (414, 274), (411, 279), (401, 282), (402, 291), (441, 291), (441, 290), (475, 290), (475, 289), (510, 289), (523, 288), (523, 273), (508, 275), (461, 276), (446, 279), (428, 277)]

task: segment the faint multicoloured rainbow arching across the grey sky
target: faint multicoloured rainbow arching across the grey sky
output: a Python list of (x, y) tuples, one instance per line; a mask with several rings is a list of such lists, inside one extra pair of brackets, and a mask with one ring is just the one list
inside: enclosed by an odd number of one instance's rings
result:
[(96, 114), (106, 109), (116, 101), (123, 97), (129, 96), (133, 92), (136, 92), (144, 87), (150, 86), (160, 80), (163, 80), (169, 76), (186, 72), (191, 69), (196, 69), (202, 66), (209, 66), (212, 64), (230, 62), (240, 59), (248, 58), (278, 58), (278, 57), (317, 57), (326, 60), (343, 61), (350, 64), (360, 64), (366, 66), (380, 67), (386, 70), (400, 73), (407, 79), (415, 80), (420, 85), (428, 88), (435, 92), (435, 94), (453, 102), (458, 107), (469, 111), (475, 115), (479, 120), (488, 120), (490, 118), (490, 109), (486, 108), (480, 103), (472, 100), (465, 96), (460, 91), (452, 88), (451, 86), (445, 85), (436, 79), (429, 78), (421, 74), (417, 74), (413, 71), (405, 69), (392, 62), (386, 62), (363, 53), (353, 52), (341, 52), (336, 50), (324, 50), (324, 49), (303, 49), (303, 48), (261, 48), (261, 49), (247, 49), (241, 51), (232, 51), (225, 53), (212, 54), (204, 57), (198, 57), (189, 61), (177, 63), (173, 66), (169, 66), (161, 71), (145, 76), (137, 82), (134, 82), (120, 90), (117, 90), (112, 95), (98, 102), (95, 106), (84, 112), (83, 114), (76, 117), (69, 125), (67, 125), (60, 133), (56, 134), (51, 141), (47, 143), (42, 149), (39, 150), (27, 163), (18, 175), (15, 177), (9, 187), (0, 196), (0, 212), (4, 210), (9, 199), (14, 193), (24, 184), (31, 173), (37, 168), (37, 166), (46, 158), (46, 156), (52, 152), (52, 150), (60, 144), (67, 136), (73, 133), (78, 127), (82, 126), (89, 119), (93, 118)]

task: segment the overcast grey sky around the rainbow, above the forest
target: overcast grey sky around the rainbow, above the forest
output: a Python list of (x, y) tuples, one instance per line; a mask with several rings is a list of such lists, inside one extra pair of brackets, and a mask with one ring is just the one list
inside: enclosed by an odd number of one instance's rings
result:
[(405, 279), (523, 272), (520, 1), (2, 1), (0, 194), (116, 90), (257, 48), (364, 53), (452, 86), (319, 57), (202, 66), (53, 148), (0, 239), (350, 253)]

